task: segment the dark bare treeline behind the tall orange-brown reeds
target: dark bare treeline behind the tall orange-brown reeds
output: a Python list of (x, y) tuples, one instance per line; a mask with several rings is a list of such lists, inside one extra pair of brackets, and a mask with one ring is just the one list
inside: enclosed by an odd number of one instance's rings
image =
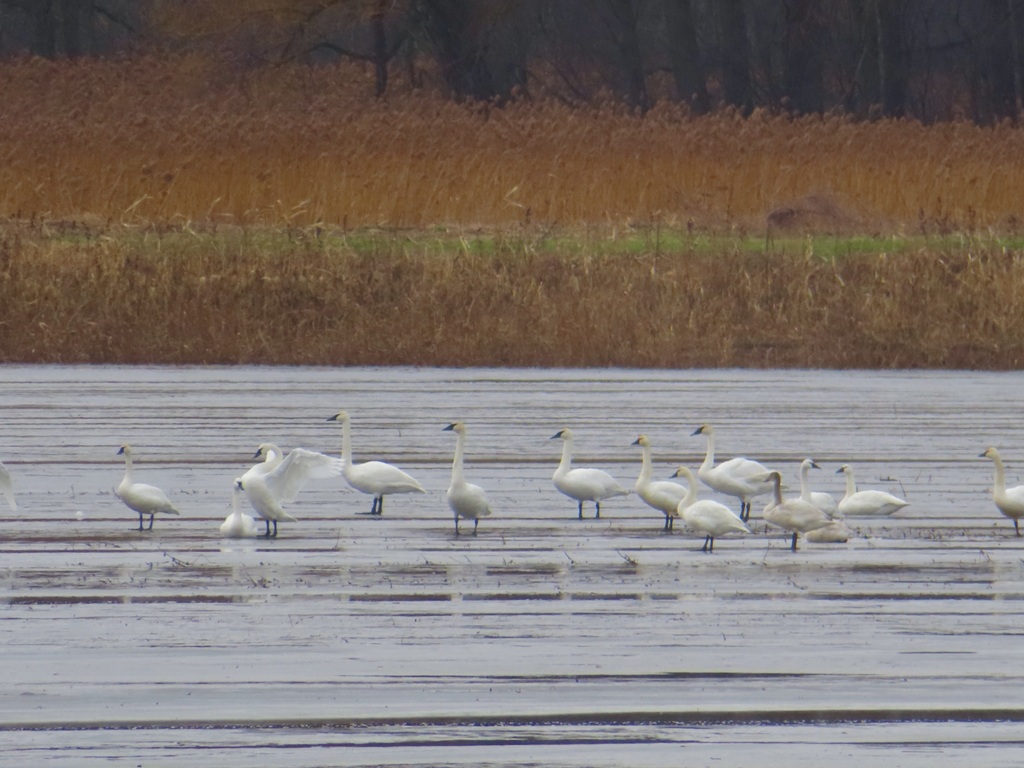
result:
[[(254, 7), (258, 6), (258, 7)], [(1017, 120), (1024, 0), (0, 0), (0, 56), (364, 62), (378, 95)]]

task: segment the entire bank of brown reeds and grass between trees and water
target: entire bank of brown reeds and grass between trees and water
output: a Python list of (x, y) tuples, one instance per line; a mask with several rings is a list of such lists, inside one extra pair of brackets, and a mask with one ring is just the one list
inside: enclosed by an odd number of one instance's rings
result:
[(0, 69), (0, 359), (1017, 368), (1024, 131)]

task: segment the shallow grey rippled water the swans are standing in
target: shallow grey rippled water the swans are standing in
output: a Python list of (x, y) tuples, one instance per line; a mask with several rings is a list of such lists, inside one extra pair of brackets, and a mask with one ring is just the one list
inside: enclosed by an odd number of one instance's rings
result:
[[(1024, 545), (988, 496), (1024, 472), (1024, 376), (969, 373), (0, 368), (0, 764), (1007, 765), (1021, 754)], [(275, 541), (222, 541), (262, 441), (386, 459), (383, 519), (311, 484)], [(454, 436), (497, 509), (454, 536)], [(634, 496), (578, 520), (578, 463), (626, 484), (742, 454), (798, 486), (911, 506), (793, 553), (701, 539)], [(182, 511), (113, 496), (121, 442)], [(723, 500), (728, 501), (728, 500)], [(983, 748), (983, 749), (981, 749)]]

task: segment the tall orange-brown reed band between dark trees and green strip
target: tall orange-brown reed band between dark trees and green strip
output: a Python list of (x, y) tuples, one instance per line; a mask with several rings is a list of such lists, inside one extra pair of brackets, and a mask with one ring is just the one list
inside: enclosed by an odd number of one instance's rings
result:
[(353, 66), (0, 67), (0, 215), (343, 227), (763, 225), (827, 195), (870, 226), (1015, 226), (1024, 131), (757, 114), (458, 105)]

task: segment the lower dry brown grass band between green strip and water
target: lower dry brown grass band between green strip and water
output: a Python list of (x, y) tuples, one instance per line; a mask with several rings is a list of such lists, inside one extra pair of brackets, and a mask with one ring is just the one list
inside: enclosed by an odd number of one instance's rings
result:
[(584, 254), (316, 229), (0, 232), (0, 360), (1024, 366), (1024, 252)]

